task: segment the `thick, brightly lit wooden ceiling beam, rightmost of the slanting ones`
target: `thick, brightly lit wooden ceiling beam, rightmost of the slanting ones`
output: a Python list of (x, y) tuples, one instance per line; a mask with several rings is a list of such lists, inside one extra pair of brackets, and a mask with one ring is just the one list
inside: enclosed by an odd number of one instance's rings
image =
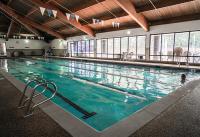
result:
[(137, 13), (135, 6), (130, 0), (114, 0), (129, 16), (137, 22), (145, 31), (149, 30), (149, 25), (144, 15)]

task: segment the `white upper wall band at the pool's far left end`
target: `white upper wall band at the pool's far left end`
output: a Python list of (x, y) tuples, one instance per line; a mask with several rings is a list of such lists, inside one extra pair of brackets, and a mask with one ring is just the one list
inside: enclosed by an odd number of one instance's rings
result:
[(7, 49), (44, 49), (48, 44), (41, 40), (26, 39), (0, 39), (0, 43), (6, 43)]

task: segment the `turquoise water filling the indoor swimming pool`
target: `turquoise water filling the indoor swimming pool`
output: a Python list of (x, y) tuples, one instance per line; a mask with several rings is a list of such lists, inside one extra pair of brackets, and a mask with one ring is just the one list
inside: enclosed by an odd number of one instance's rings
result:
[(175, 91), (182, 73), (188, 80), (200, 76), (187, 70), (58, 59), (8, 59), (7, 64), (8, 72), (24, 83), (34, 77), (56, 83), (60, 95), (96, 114), (83, 119), (83, 113), (59, 96), (52, 102), (98, 131)]

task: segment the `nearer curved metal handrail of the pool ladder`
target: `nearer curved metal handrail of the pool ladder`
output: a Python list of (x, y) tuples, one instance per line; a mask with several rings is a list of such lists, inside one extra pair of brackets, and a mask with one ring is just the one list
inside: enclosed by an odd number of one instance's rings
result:
[[(50, 88), (50, 87), (48, 87), (49, 85), (52, 85), (52, 86), (53, 86), (53, 89)], [(53, 94), (52, 94), (52, 96), (50, 96), (49, 98), (47, 98), (47, 99), (45, 99), (45, 100), (43, 100), (43, 101), (40, 101), (39, 103), (37, 103), (37, 104), (35, 104), (35, 105), (33, 105), (33, 106), (31, 107), (32, 99), (33, 99), (34, 97), (37, 97), (37, 96), (39, 96), (39, 95), (42, 94), (42, 93), (39, 93), (39, 94), (37, 94), (37, 95), (34, 95), (34, 94), (35, 94), (35, 91), (36, 91), (36, 89), (37, 89), (38, 87), (45, 87), (45, 89), (42, 91), (43, 93), (44, 93), (45, 91), (49, 90), (49, 91), (52, 92)], [(28, 100), (28, 105), (27, 105), (27, 109), (26, 109), (26, 112), (25, 112), (25, 117), (28, 117), (28, 116), (32, 115), (32, 112), (33, 112), (34, 108), (36, 108), (37, 106), (39, 106), (39, 105), (41, 105), (41, 104), (43, 104), (43, 103), (45, 103), (45, 102), (51, 100), (51, 99), (56, 95), (56, 93), (57, 93), (57, 86), (56, 86), (55, 83), (53, 83), (53, 82), (47, 81), (47, 82), (45, 82), (45, 83), (37, 84), (37, 85), (34, 87), (32, 93), (31, 93), (31, 96), (30, 96), (30, 98), (29, 98), (29, 100)]]

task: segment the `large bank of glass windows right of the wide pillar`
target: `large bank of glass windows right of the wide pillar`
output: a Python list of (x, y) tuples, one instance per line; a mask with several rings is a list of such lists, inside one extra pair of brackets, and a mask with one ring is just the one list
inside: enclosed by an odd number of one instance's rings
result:
[(200, 63), (200, 31), (152, 35), (150, 48), (151, 60)]

